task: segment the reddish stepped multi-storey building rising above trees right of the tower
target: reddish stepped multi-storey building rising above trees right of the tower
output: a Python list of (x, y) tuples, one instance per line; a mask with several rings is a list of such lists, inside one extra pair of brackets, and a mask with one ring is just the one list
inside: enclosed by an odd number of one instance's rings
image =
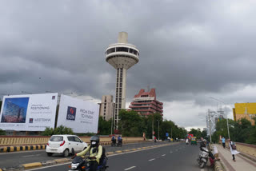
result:
[(149, 92), (145, 92), (145, 89), (141, 89), (139, 93), (134, 96), (129, 108), (142, 116), (148, 116), (153, 113), (160, 113), (162, 115), (162, 105), (162, 102), (157, 101), (155, 89), (150, 89)]

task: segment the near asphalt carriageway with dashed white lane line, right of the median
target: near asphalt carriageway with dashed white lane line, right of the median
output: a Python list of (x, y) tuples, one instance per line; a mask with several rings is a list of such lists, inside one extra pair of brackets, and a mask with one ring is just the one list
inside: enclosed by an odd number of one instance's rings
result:
[[(186, 145), (185, 143), (167, 145), (154, 149), (143, 149), (132, 153), (119, 153), (111, 155), (108, 160), (110, 171), (174, 171), (190, 170), (204, 171), (212, 168), (199, 169), (196, 158), (198, 157), (199, 146)], [(69, 170), (69, 164), (54, 165), (38, 171), (61, 171)]]

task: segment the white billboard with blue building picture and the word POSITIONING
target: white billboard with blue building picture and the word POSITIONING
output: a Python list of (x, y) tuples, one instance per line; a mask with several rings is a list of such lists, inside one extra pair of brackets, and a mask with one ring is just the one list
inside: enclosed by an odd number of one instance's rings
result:
[(0, 129), (43, 131), (54, 128), (58, 93), (4, 96)]

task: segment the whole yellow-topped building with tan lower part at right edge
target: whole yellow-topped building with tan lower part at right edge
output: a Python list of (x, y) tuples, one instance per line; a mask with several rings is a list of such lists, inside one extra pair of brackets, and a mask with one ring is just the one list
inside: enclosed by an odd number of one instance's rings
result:
[(234, 121), (246, 118), (255, 125), (254, 117), (256, 117), (256, 103), (235, 103), (233, 109)]

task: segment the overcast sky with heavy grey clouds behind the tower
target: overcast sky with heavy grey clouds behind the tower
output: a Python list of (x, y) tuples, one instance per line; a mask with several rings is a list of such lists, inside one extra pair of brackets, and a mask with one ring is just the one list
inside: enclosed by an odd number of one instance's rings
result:
[[(118, 32), (140, 50), (126, 106), (157, 89), (164, 117), (206, 127), (207, 109), (255, 102), (256, 1), (0, 1), (0, 93), (114, 94), (105, 50)], [(224, 105), (222, 105), (223, 107)]]

